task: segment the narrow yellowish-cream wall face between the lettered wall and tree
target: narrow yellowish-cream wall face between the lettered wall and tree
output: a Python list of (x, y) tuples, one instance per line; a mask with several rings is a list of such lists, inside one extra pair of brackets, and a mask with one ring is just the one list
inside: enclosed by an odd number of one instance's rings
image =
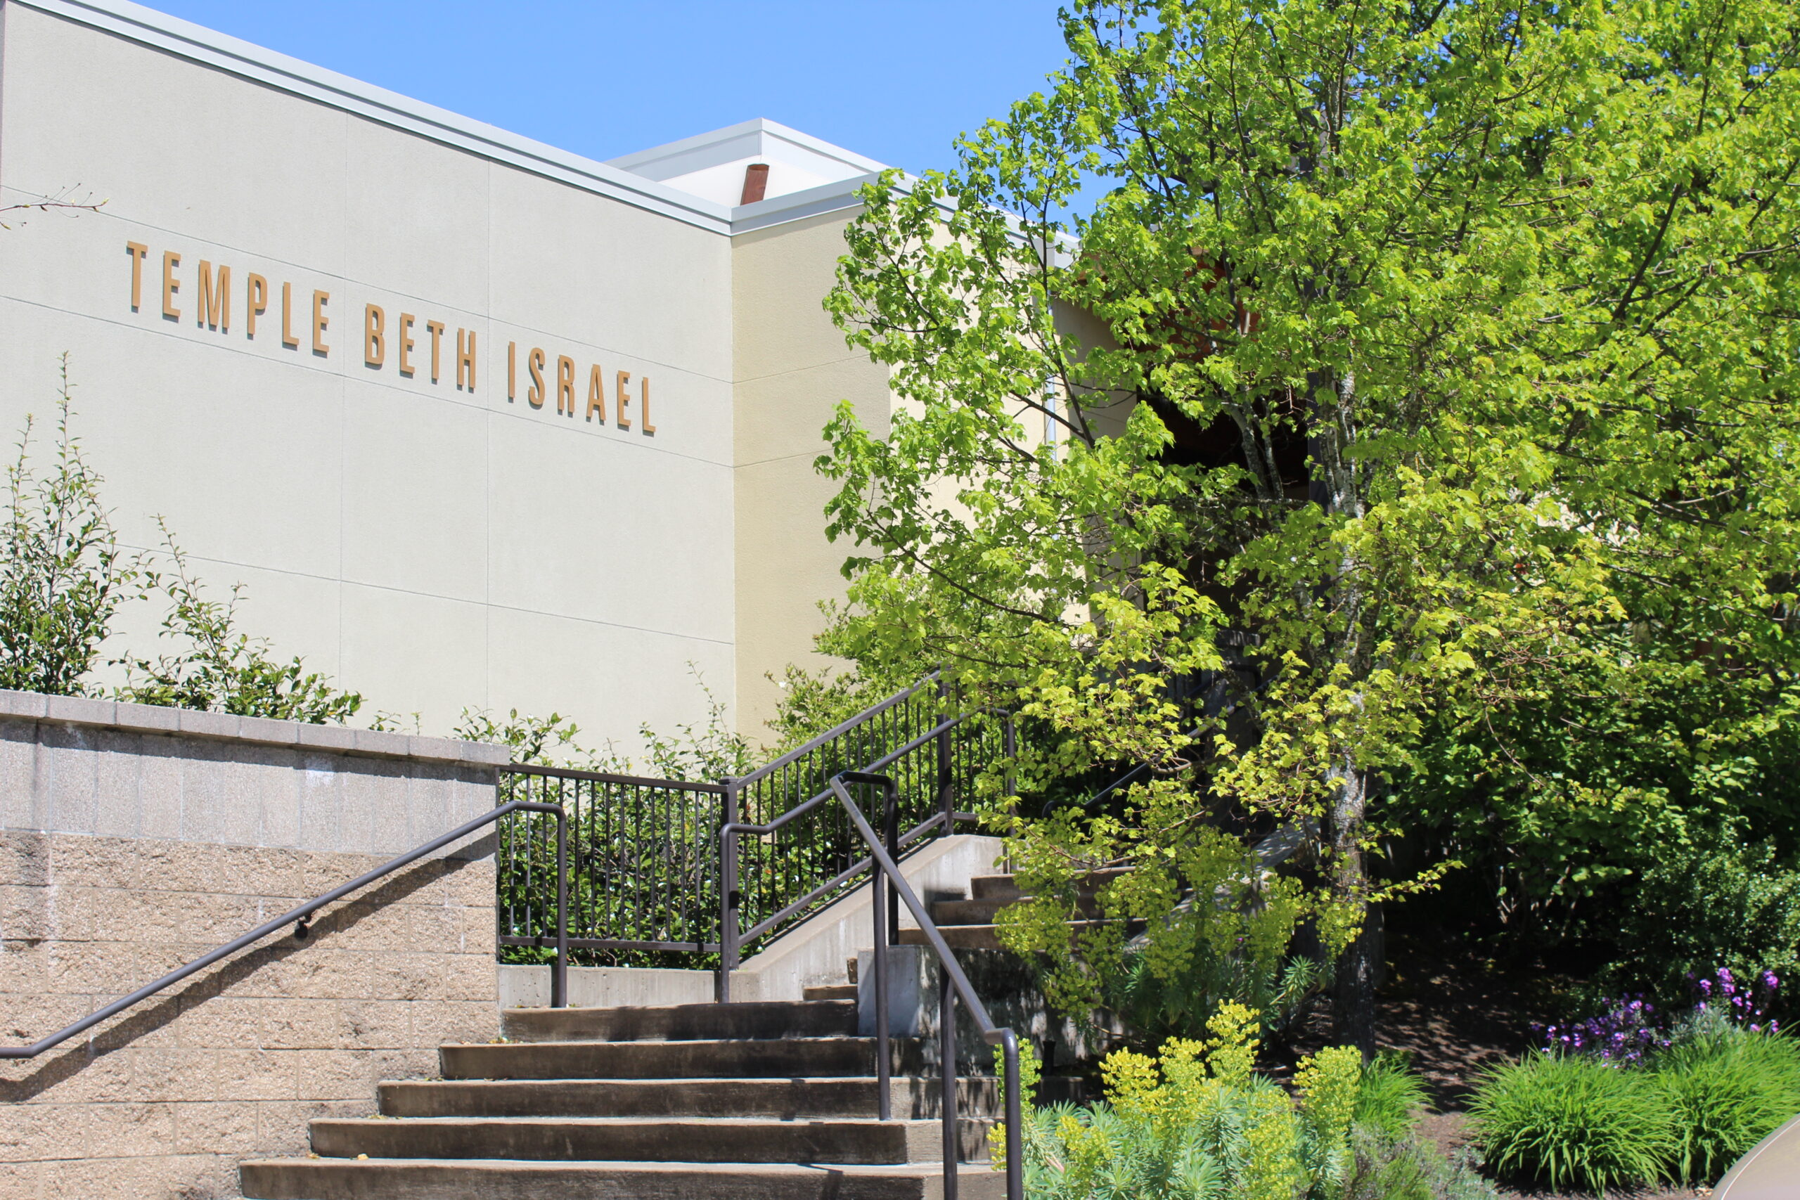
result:
[(844, 254), (839, 210), (733, 237), (736, 392), (738, 720), (765, 732), (779, 689), (765, 678), (794, 662), (826, 664), (812, 648), (821, 599), (844, 594), (851, 552), (824, 536), (837, 484), (814, 471), (841, 399), (887, 432), (887, 369), (844, 344), (823, 308)]

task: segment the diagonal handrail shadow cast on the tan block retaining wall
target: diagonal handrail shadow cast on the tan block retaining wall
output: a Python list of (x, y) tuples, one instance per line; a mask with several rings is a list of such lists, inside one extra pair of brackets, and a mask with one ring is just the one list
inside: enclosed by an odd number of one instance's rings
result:
[[(43, 844), (49, 842), (50, 835), (14, 833), (13, 837), (20, 838), (27, 847), (32, 842), (36, 842), (41, 847)], [(72, 1079), (79, 1072), (92, 1067), (103, 1056), (113, 1051), (128, 1049), (133, 1042), (164, 1029), (178, 1016), (198, 1009), (214, 997), (223, 995), (234, 984), (250, 979), (263, 968), (283, 963), (292, 955), (304, 954), (306, 950), (329, 939), (333, 934), (342, 934), (355, 928), (373, 912), (400, 903), (409, 896), (412, 896), (414, 892), (436, 883), (437, 880), (446, 880), (455, 876), (457, 873), (473, 865), (477, 860), (493, 855), (495, 846), (497, 846), (497, 835), (488, 833), (486, 837), (477, 838), (475, 842), (470, 842), (443, 858), (419, 860), (414, 865), (403, 869), (400, 874), (387, 878), (373, 891), (356, 892), (353, 896), (344, 898), (335, 907), (313, 914), (304, 941), (293, 937), (293, 934), (288, 934), (274, 943), (245, 950), (239, 955), (227, 959), (225, 963), (220, 963), (211, 972), (203, 972), (202, 975), (189, 979), (180, 991), (144, 1000), (137, 1009), (124, 1013), (117, 1020), (117, 1024), (106, 1025), (99, 1033), (88, 1034), (85, 1042), (77, 1042), (74, 1047), (63, 1043), (61, 1047), (45, 1051), (43, 1058), (47, 1061), (43, 1061), (41, 1067), (38, 1067), (25, 1078), (0, 1079), (0, 1103), (23, 1103), (32, 1099), (40, 1092), (45, 1092), (56, 1087), (58, 1083), (63, 1083), (65, 1079)], [(40, 853), (34, 855), (31, 853), (31, 849), (27, 849), (27, 858), (41, 862), (43, 853), (40, 849)], [(43, 887), (45, 882), (47, 882), (45, 878), (20, 880), (20, 883), (27, 887), (31, 887), (32, 883)], [(329, 891), (329, 889), (320, 889), (320, 891)], [(304, 900), (310, 898), (308, 896), (293, 898), (293, 905), (302, 903)], [(20, 937), (16, 941), (36, 945), (43, 939)], [(200, 957), (200, 954), (191, 955), (189, 961), (193, 957)], [(0, 954), (0, 961), (4, 961), (4, 954)], [(149, 981), (144, 979), (144, 981), (119, 981), (119, 982), (121, 982), (119, 995), (124, 995), (128, 990), (135, 990)], [(14, 1029), (14, 1027), (5, 1029), (5, 1034), (9, 1038), (16, 1038), (27, 1043), (36, 1042), (38, 1038), (43, 1038), (50, 1033), (54, 1033), (54, 1029), (38, 1029), (38, 1031)], [(32, 1061), (32, 1060), (16, 1060), (16, 1061)]]

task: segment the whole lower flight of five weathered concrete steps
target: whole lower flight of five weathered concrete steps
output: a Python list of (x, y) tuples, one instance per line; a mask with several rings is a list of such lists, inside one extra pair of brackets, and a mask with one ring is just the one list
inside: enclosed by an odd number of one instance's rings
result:
[[(445, 1045), (441, 1079), (378, 1088), (380, 1115), (311, 1123), (310, 1159), (250, 1160), (256, 1200), (929, 1200), (943, 1191), (938, 1079), (875, 1040), (850, 999), (511, 1009), (506, 1040)], [(994, 1079), (958, 1087), (959, 1193), (986, 1164)]]

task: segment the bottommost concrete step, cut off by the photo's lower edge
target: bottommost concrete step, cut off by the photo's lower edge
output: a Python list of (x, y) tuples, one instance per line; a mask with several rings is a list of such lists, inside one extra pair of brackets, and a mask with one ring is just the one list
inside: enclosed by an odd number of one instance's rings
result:
[[(1006, 1195), (986, 1166), (956, 1175), (961, 1200)], [(941, 1164), (261, 1159), (239, 1178), (250, 1200), (943, 1200)]]

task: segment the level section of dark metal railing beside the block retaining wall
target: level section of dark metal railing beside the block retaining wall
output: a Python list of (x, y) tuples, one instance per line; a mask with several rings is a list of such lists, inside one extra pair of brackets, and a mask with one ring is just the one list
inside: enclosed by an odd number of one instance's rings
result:
[[(718, 829), (725, 788), (553, 766), (508, 766), (500, 797), (553, 804), (569, 822), (567, 943), (585, 966), (711, 966), (718, 954)], [(553, 847), (500, 828), (499, 943), (542, 948)], [(697, 957), (698, 955), (698, 957)], [(509, 957), (529, 959), (515, 952)]]

